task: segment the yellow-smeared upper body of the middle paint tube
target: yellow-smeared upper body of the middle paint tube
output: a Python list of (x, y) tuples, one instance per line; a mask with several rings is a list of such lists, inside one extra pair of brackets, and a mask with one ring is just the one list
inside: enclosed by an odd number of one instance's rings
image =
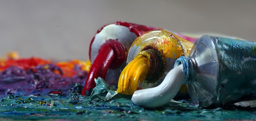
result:
[(165, 30), (151, 30), (139, 36), (131, 47), (137, 46), (142, 50), (148, 45), (162, 50), (166, 58), (179, 58), (189, 55), (193, 43)]

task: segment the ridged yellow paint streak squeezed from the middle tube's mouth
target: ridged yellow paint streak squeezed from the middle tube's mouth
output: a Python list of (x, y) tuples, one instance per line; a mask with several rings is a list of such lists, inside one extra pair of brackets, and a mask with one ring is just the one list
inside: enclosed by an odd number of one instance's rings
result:
[(137, 55), (121, 72), (117, 93), (132, 95), (137, 91), (138, 84), (146, 79), (149, 68), (148, 58), (143, 55)]

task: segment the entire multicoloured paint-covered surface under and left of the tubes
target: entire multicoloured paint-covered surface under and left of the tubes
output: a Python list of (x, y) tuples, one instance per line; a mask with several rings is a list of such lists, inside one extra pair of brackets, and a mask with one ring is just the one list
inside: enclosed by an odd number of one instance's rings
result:
[(53, 62), (34, 57), (0, 60), (0, 120), (256, 119), (250, 107), (255, 102), (197, 108), (189, 99), (180, 99), (159, 108), (142, 108), (131, 102), (131, 96), (116, 94), (116, 86), (108, 86), (101, 78), (95, 80), (92, 95), (81, 96), (87, 65), (81, 60)]

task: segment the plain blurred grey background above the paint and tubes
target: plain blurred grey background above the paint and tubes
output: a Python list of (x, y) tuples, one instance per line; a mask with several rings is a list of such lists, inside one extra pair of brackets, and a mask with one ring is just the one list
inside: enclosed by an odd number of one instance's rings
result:
[(0, 0), (0, 56), (89, 58), (92, 37), (116, 21), (256, 41), (256, 0)]

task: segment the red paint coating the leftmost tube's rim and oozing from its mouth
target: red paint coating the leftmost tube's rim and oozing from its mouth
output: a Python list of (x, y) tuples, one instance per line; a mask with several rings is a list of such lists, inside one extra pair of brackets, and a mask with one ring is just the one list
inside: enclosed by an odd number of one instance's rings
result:
[[(149, 27), (149, 26), (144, 26), (144, 25), (140, 25), (140, 24), (133, 24), (133, 23), (121, 22), (121, 21), (118, 21), (118, 22), (112, 23), (112, 24), (121, 25), (121, 26), (125, 26), (125, 27), (129, 28), (130, 32), (135, 33), (135, 35), (137, 35), (137, 37), (139, 37), (140, 35), (142, 35), (143, 33), (147, 32), (149, 30), (159, 29), (159, 28), (155, 28), (155, 27)], [(101, 32), (101, 30), (103, 30), (104, 27), (106, 27), (108, 25), (110, 25), (110, 24), (107, 24), (107, 25), (101, 27), (97, 31), (96, 35), (99, 32)], [(126, 33), (124, 33), (124, 34), (126, 34)], [(91, 47), (92, 47), (92, 43), (94, 42), (94, 38), (95, 38), (95, 35), (92, 38), (92, 41), (90, 43), (90, 50), (89, 50), (90, 59), (91, 59), (90, 54), (91, 54), (91, 49), (92, 49)], [(112, 38), (112, 39), (116, 39), (116, 38)], [(85, 82), (84, 89), (81, 94), (85, 95), (86, 91), (88, 91), (88, 93), (90, 93), (90, 91), (92, 91), (92, 89), (96, 86), (94, 79), (98, 78), (98, 77), (105, 79), (108, 69), (119, 68), (119, 66), (122, 63), (124, 63), (124, 61), (126, 60), (126, 57), (128, 54), (128, 49), (129, 48), (125, 48), (124, 45), (122, 45), (121, 43), (119, 43), (119, 42), (117, 43), (117, 41), (113, 41), (113, 40), (103, 43), (103, 47), (101, 47), (99, 49), (99, 53), (96, 56), (94, 62), (92, 63), (87, 80)]]

